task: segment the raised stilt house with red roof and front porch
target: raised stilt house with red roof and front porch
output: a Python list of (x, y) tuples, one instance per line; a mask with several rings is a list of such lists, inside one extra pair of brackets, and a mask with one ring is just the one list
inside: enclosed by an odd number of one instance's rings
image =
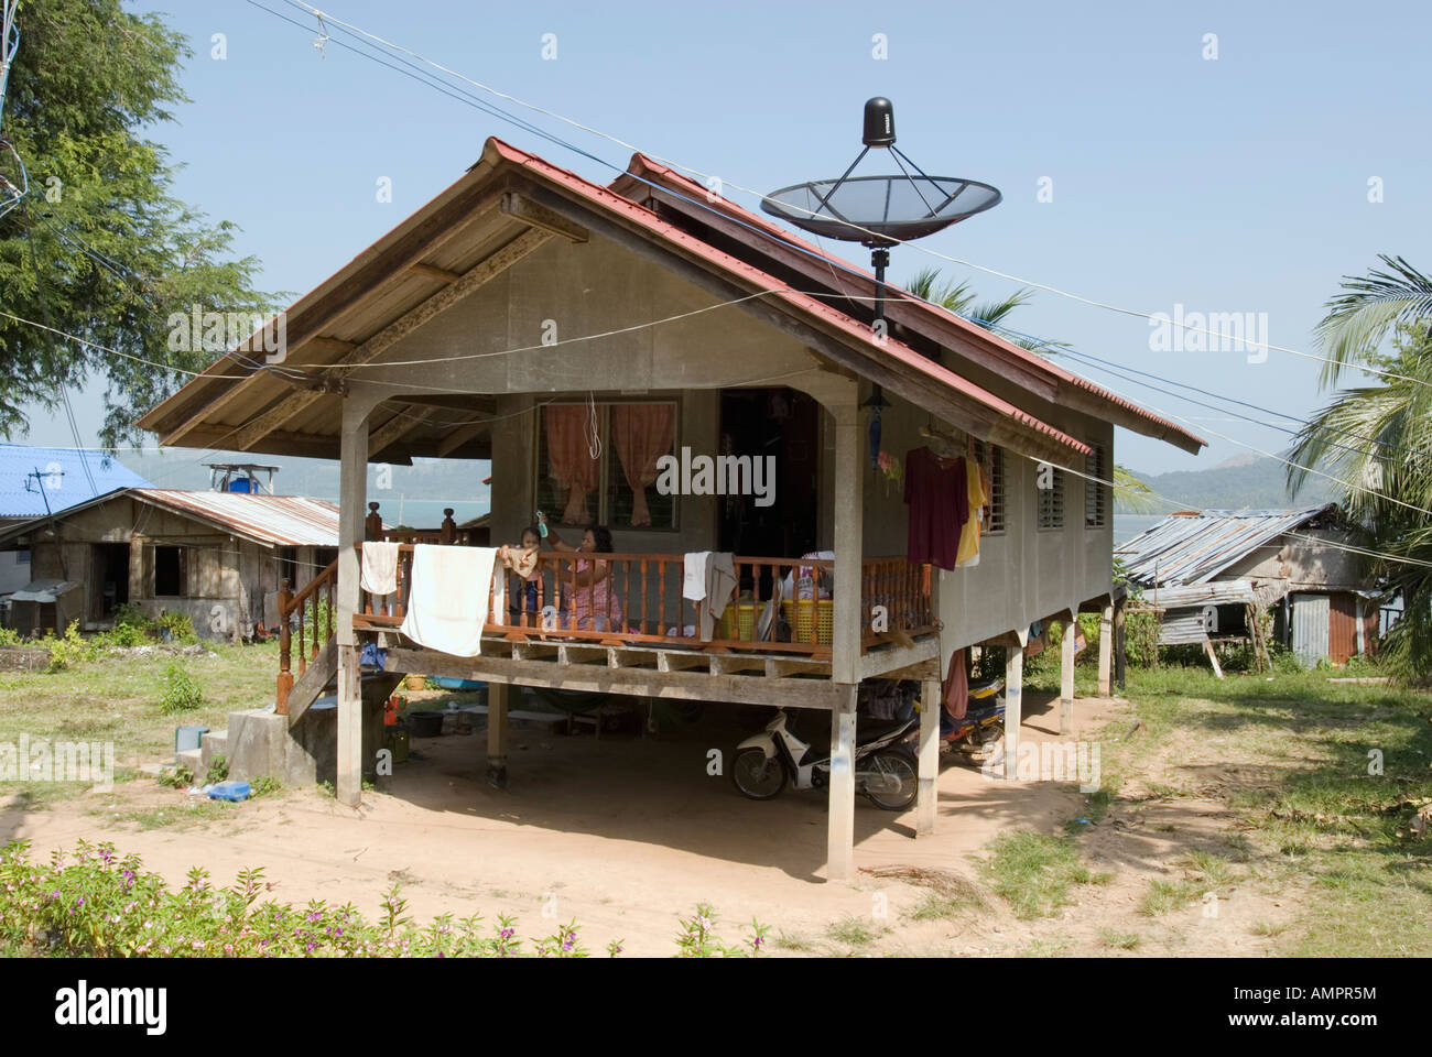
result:
[[(235, 349), (140, 420), (166, 447), (341, 460), (342, 539), (324, 581), (338, 604), (335, 634), (311, 662), (295, 652), (296, 670), (282, 653), (272, 719), (306, 738), (305, 709), (337, 675), (337, 733), (325, 736), (337, 738), (342, 802), (359, 802), (374, 759), (359, 656), (379, 637), (390, 673), (488, 683), (494, 783), (505, 782), (514, 686), (829, 713), (838, 878), (853, 871), (849, 761), (862, 680), (922, 683), (922, 834), (935, 822), (938, 699), (957, 650), (1007, 649), (1011, 742), (1035, 620), (1098, 612), (1108, 686), (1113, 517), (1100, 481), (1114, 464), (1114, 427), (1190, 453), (1203, 441), (894, 286), (888, 335), (876, 334), (874, 276), (848, 268), (642, 155), (601, 186), (490, 139), (467, 175), (286, 311), (285, 370), (308, 372), (308, 385), (253, 370)], [(944, 444), (971, 473), (984, 470), (992, 498), (975, 533), (978, 564), (906, 560), (902, 488), (872, 467), (872, 405), (882, 408), (879, 447), (901, 461)], [(401, 636), (401, 613), (361, 590), (358, 546), (369, 463), (414, 457), (493, 460), (494, 541), (516, 541), (534, 510), (571, 543), (587, 521), (610, 526), (604, 560), (624, 603), (620, 626), (543, 632), (498, 609), (471, 629), (483, 634), (473, 657)], [(687, 473), (717, 457), (733, 460), (732, 473), (745, 460), (746, 494)], [(768, 457), (776, 474), (763, 494), (752, 470)], [(663, 460), (683, 468), (657, 487)], [(401, 549), (400, 584), (411, 584), (412, 550)], [(819, 550), (833, 559), (802, 560)], [(833, 597), (818, 616), (809, 604), (803, 619), (796, 612), (789, 640), (753, 636), (750, 610), (737, 606), (713, 640), (684, 637), (692, 551), (733, 553), (755, 609), (798, 569), (833, 574)], [(553, 602), (554, 573), (569, 584), (570, 556), (548, 557), (540, 587)], [(485, 584), (448, 590), (487, 599)], [(1061, 656), (1065, 699), (1073, 640)]]

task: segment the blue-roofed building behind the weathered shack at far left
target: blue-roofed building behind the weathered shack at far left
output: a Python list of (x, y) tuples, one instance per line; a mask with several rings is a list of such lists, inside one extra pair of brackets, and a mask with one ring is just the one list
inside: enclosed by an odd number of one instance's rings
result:
[[(146, 484), (117, 460), (106, 463), (99, 451), (0, 444), (0, 527), (59, 513), (115, 488)], [(24, 589), (30, 579), (29, 551), (0, 553), (0, 599)]]

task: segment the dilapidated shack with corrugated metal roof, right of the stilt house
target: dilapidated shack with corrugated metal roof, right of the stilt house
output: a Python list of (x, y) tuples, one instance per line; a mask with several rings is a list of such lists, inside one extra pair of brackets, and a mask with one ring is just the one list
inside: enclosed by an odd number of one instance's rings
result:
[(1158, 613), (1160, 642), (1272, 640), (1307, 666), (1376, 649), (1380, 594), (1350, 551), (1353, 527), (1336, 504), (1302, 510), (1180, 511), (1121, 544), (1140, 607)]

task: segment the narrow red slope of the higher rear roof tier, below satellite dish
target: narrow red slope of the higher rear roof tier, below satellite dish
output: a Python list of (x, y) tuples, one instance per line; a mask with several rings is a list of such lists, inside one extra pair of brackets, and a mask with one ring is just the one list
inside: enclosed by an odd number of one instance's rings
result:
[[(812, 255), (815, 255), (815, 256), (818, 256), (818, 258), (821, 258), (823, 261), (828, 261), (828, 262), (831, 262), (833, 265), (839, 265), (842, 269), (858, 272), (861, 276), (866, 278), (871, 284), (875, 282), (875, 275), (872, 272), (866, 271), (865, 268), (861, 268), (858, 265), (851, 264), (849, 261), (843, 261), (843, 259), (841, 259), (838, 256), (833, 256), (833, 255), (825, 252), (823, 249), (821, 249), (821, 246), (818, 246), (818, 245), (815, 245), (812, 242), (808, 242), (806, 239), (800, 238), (799, 235), (795, 235), (795, 233), (786, 231), (785, 228), (773, 223), (769, 218), (765, 218), (760, 213), (753, 213), (749, 209), (745, 209), (743, 206), (736, 205), (735, 202), (732, 202), (727, 198), (723, 198), (720, 195), (712, 193), (706, 186), (697, 183), (696, 180), (690, 179), (689, 176), (684, 176), (683, 173), (677, 172), (676, 169), (672, 169), (670, 166), (662, 165), (660, 162), (656, 162), (656, 160), (647, 158), (646, 155), (643, 155), (640, 152), (632, 155), (632, 165), (629, 166), (629, 172), (633, 173), (633, 175), (637, 175), (640, 178), (650, 178), (650, 179), (653, 179), (653, 182), (657, 182), (657, 183), (666, 183), (666, 185), (674, 186), (674, 188), (677, 188), (680, 190), (680, 193), (686, 195), (687, 198), (693, 198), (697, 202), (706, 202), (713, 209), (717, 209), (717, 211), (726, 213), (727, 216), (730, 216), (730, 218), (733, 218), (736, 221), (740, 221), (745, 225), (749, 225), (752, 228), (758, 228), (768, 238), (785, 242), (785, 243), (792, 245), (792, 246), (798, 246), (805, 254), (812, 254)], [(620, 180), (621, 180), (621, 178), (619, 176), (617, 180), (614, 180), (613, 183), (620, 183)], [(755, 235), (755, 232), (753, 232), (753, 235)], [(1144, 418), (1144, 420), (1147, 420), (1150, 423), (1157, 424), (1160, 428), (1170, 430), (1173, 433), (1179, 433), (1179, 434), (1181, 434), (1184, 437), (1189, 437), (1193, 441), (1197, 441), (1201, 445), (1207, 444), (1207, 441), (1204, 441), (1201, 437), (1197, 437), (1196, 434), (1190, 433), (1189, 430), (1186, 430), (1184, 427), (1179, 425), (1177, 423), (1171, 423), (1167, 418), (1164, 418), (1161, 415), (1157, 415), (1153, 411), (1148, 411), (1147, 408), (1138, 407), (1137, 404), (1134, 404), (1134, 402), (1131, 402), (1128, 400), (1124, 400), (1123, 397), (1116, 395), (1116, 394), (1110, 392), (1108, 390), (1106, 390), (1106, 388), (1103, 388), (1100, 385), (1095, 385), (1094, 382), (1088, 381), (1087, 378), (1081, 378), (1080, 375), (1073, 374), (1071, 371), (1067, 371), (1063, 367), (1050, 362), (1047, 358), (1044, 358), (1044, 357), (1041, 357), (1041, 355), (1038, 355), (1035, 352), (1031, 352), (1027, 348), (1021, 348), (1020, 345), (1015, 345), (1014, 342), (1007, 341), (1007, 339), (1001, 338), (997, 334), (992, 334), (991, 331), (985, 329), (984, 327), (979, 327), (978, 324), (971, 322), (969, 319), (965, 319), (964, 317), (957, 315), (955, 312), (951, 312), (951, 311), (948, 311), (945, 308), (941, 308), (939, 305), (932, 305), (928, 301), (922, 301), (922, 299), (916, 298), (914, 294), (911, 294), (909, 291), (906, 291), (906, 289), (904, 289), (904, 288), (901, 288), (901, 286), (898, 286), (895, 284), (886, 282), (885, 286), (886, 286), (886, 291), (891, 295), (902, 298), (902, 304), (911, 305), (915, 311), (918, 311), (921, 314), (925, 314), (927, 317), (929, 317), (932, 319), (941, 319), (941, 321), (944, 321), (947, 324), (958, 327), (959, 329), (962, 329), (964, 332), (969, 334), (971, 337), (975, 337), (979, 341), (982, 341), (985, 345), (990, 345), (992, 342), (992, 345), (1000, 352), (1002, 352), (1011, 361), (1018, 362), (1021, 367), (1032, 370), (1037, 374), (1044, 374), (1044, 375), (1047, 375), (1050, 378), (1057, 378), (1057, 380), (1068, 382), (1071, 385), (1077, 385), (1078, 388), (1081, 388), (1081, 390), (1084, 390), (1087, 392), (1091, 392), (1091, 394), (1100, 397), (1101, 400), (1107, 400), (1108, 402), (1111, 402), (1111, 404), (1114, 404), (1117, 407), (1121, 407), (1121, 408), (1124, 408), (1127, 411), (1131, 411), (1133, 414), (1138, 415), (1140, 418)], [(935, 335), (928, 335), (928, 337), (932, 337), (934, 339), (938, 341), (938, 338), (935, 338)]]

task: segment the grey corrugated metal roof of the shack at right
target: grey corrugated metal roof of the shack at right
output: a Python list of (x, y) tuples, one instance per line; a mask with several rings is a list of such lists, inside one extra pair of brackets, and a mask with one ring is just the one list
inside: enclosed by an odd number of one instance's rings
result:
[(1302, 510), (1204, 510), (1174, 514), (1120, 547), (1128, 577), (1138, 584), (1206, 583), (1264, 543), (1336, 510), (1319, 504)]

